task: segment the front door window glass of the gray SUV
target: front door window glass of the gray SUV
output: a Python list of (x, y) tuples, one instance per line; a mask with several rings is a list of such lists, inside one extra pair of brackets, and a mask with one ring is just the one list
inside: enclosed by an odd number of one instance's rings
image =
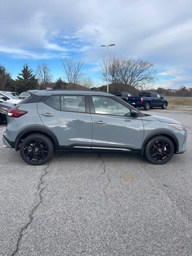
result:
[(92, 96), (92, 100), (96, 114), (131, 116), (129, 108), (110, 97)]

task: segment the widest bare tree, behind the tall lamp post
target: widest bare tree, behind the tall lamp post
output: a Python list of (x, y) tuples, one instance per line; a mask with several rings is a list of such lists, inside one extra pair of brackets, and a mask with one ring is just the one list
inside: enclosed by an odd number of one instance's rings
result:
[[(107, 61), (102, 61), (100, 68), (101, 77), (107, 80)], [(156, 68), (153, 62), (141, 59), (110, 56), (109, 81), (116, 85), (125, 84), (134, 88), (143, 89), (154, 84), (156, 80)]]

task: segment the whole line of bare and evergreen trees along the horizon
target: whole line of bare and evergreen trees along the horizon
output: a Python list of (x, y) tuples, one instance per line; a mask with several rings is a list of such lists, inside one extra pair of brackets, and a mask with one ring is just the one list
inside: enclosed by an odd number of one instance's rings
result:
[[(61, 58), (60, 60), (63, 67), (63, 78), (57, 78), (54, 83), (52, 83), (54, 77), (46, 62), (38, 63), (35, 70), (29, 68), (27, 63), (24, 64), (16, 79), (12, 79), (11, 73), (6, 70), (6, 67), (0, 65), (0, 90), (14, 91), (20, 94), (26, 90), (44, 90), (50, 87), (50, 84), (53, 85), (53, 88), (60, 88), (62, 85), (70, 89), (98, 87), (90, 76), (86, 76), (83, 59), (75, 60), (73, 57), (70, 57)], [(154, 63), (142, 59), (126, 56), (109, 56), (108, 68), (109, 82), (111, 83), (109, 92), (122, 90), (136, 95), (140, 90), (152, 88), (157, 80), (157, 70)], [(106, 58), (103, 58), (100, 65), (100, 78), (106, 84)], [(105, 91), (106, 86), (103, 85), (99, 89)], [(182, 88), (180, 94), (186, 96), (185, 94), (190, 94), (188, 91), (188, 89)], [(170, 93), (170, 91), (159, 93), (168, 95), (168, 92)]]

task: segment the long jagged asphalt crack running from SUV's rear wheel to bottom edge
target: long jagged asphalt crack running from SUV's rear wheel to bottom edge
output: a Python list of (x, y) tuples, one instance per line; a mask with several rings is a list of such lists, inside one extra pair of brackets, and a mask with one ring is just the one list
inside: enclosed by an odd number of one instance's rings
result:
[(26, 230), (26, 229), (28, 228), (28, 226), (31, 224), (31, 222), (32, 222), (32, 220), (33, 220), (33, 214), (34, 214), (35, 210), (36, 210), (36, 209), (38, 208), (38, 206), (40, 206), (40, 204), (42, 203), (42, 199), (43, 199), (43, 197), (42, 197), (42, 192), (43, 192), (43, 190), (44, 190), (48, 185), (44, 186), (43, 188), (41, 188), (41, 186), (44, 184), (44, 181), (43, 181), (44, 176), (46, 176), (46, 174), (48, 174), (48, 172), (47, 172), (47, 169), (48, 169), (48, 168), (49, 168), (49, 163), (48, 163), (48, 165), (46, 166), (46, 168), (44, 169), (44, 174), (42, 174), (42, 175), (40, 176), (40, 183), (38, 184), (38, 195), (39, 195), (39, 197), (40, 197), (40, 200), (39, 200), (38, 204), (36, 204), (36, 205), (34, 206), (34, 208), (31, 210), (31, 212), (30, 212), (30, 214), (29, 214), (30, 220), (29, 220), (29, 221), (27, 222), (27, 224), (20, 230), (20, 232), (19, 232), (19, 237), (18, 237), (18, 240), (17, 240), (17, 247), (16, 247), (16, 250), (14, 250), (14, 252), (11, 254), (11, 256), (16, 255), (16, 253), (18, 252), (18, 250), (19, 250), (19, 244), (20, 244), (20, 240), (22, 239), (23, 232), (24, 232), (24, 230)]

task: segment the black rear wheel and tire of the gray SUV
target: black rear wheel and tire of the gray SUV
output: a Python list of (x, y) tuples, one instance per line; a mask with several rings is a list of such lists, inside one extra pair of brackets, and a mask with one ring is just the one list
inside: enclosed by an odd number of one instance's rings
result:
[(42, 165), (49, 162), (54, 152), (52, 141), (43, 134), (31, 134), (21, 143), (20, 155), (31, 165)]

